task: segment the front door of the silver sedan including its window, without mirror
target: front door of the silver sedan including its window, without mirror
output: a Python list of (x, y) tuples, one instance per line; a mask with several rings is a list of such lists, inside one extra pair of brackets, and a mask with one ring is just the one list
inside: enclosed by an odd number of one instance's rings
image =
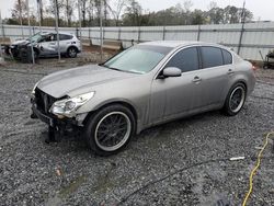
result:
[[(191, 113), (201, 104), (202, 81), (196, 47), (178, 52), (164, 66), (182, 70), (181, 77), (155, 79), (151, 85), (150, 123)], [(160, 73), (161, 75), (161, 73)]]

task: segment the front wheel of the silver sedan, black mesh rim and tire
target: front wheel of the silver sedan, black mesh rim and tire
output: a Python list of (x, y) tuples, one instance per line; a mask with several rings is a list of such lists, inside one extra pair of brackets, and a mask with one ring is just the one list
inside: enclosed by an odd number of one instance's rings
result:
[(136, 121), (132, 111), (123, 105), (113, 104), (89, 117), (84, 126), (84, 138), (96, 154), (111, 156), (123, 150), (135, 131)]

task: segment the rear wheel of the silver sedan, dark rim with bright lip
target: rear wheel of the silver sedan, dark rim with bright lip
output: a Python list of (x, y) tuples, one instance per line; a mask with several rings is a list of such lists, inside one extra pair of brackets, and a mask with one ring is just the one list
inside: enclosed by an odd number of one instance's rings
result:
[(243, 83), (236, 83), (228, 92), (222, 111), (228, 116), (237, 115), (247, 98), (247, 88)]

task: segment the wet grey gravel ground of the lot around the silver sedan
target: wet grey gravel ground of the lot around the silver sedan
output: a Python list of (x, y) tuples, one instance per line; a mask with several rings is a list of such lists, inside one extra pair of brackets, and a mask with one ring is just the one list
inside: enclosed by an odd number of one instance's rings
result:
[[(123, 152), (101, 158), (84, 141), (45, 144), (47, 127), (30, 118), (30, 93), (46, 73), (87, 61), (42, 59), (0, 66), (0, 205), (240, 205), (258, 146), (274, 129), (274, 70), (258, 70), (242, 112), (210, 112), (153, 127)], [(273, 144), (273, 141), (271, 141)], [(230, 157), (244, 156), (241, 161)], [(249, 205), (274, 205), (271, 145)]]

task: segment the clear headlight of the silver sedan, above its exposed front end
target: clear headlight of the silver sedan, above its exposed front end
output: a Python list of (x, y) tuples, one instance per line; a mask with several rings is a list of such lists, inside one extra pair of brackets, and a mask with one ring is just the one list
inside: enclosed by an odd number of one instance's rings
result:
[(72, 117), (73, 112), (92, 99), (94, 94), (95, 92), (89, 92), (75, 98), (57, 101), (52, 105), (49, 112), (55, 115)]

